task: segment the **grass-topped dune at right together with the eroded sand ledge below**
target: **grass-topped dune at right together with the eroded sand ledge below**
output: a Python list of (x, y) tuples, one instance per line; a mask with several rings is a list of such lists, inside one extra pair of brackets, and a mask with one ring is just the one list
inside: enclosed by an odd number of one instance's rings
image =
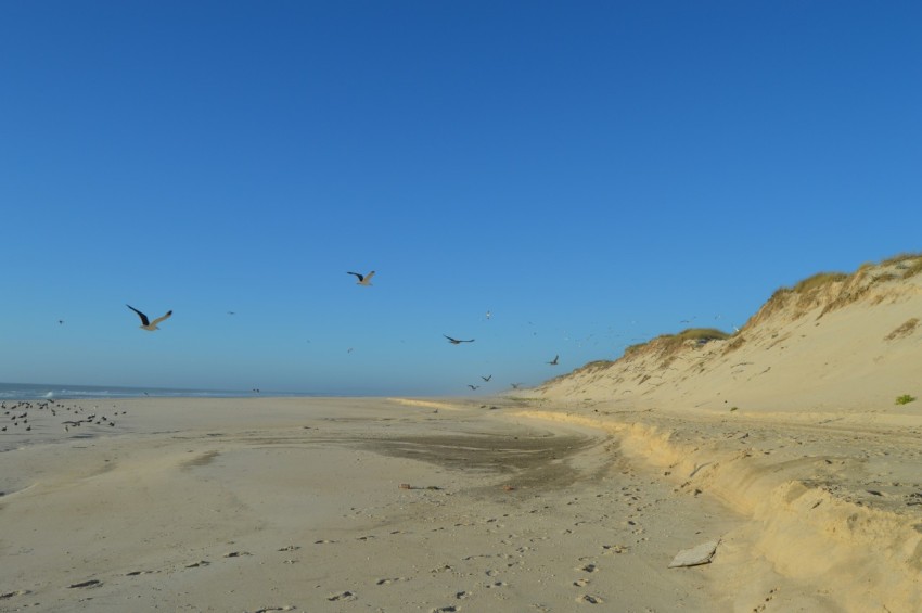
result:
[(896, 398), (922, 397), (920, 264), (815, 278), (729, 339), (656, 339), (520, 404), (721, 500), (747, 519), (726, 540), (833, 610), (918, 611), (922, 404)]

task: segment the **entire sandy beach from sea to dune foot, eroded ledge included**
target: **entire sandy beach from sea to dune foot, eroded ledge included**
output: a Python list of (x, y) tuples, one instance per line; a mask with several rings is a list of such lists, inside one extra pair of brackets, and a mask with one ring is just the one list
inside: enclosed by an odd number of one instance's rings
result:
[[(896, 513), (913, 498), (867, 486), (872, 465), (891, 481), (918, 467), (905, 429), (525, 398), (110, 404), (117, 427), (44, 413), (30, 439), (0, 438), (0, 611), (920, 602), (920, 524)], [(805, 475), (829, 491), (785, 486)], [(712, 563), (668, 567), (714, 540)]]

